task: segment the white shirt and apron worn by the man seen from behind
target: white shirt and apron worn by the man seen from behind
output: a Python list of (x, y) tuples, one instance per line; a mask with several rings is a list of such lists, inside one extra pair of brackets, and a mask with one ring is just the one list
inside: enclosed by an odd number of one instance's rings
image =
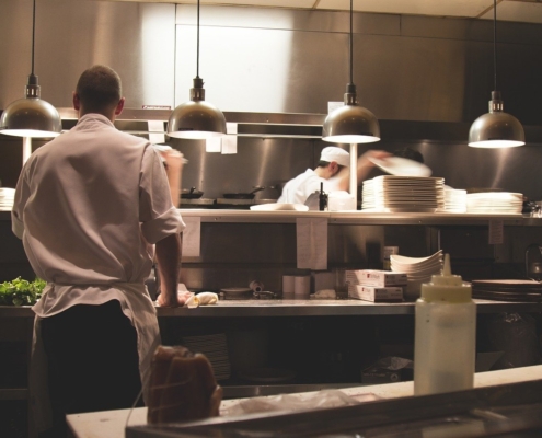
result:
[(138, 333), (146, 389), (160, 337), (143, 281), (153, 244), (185, 228), (150, 142), (117, 130), (103, 115), (84, 115), (24, 165), (12, 228), (35, 274), (47, 281), (36, 315), (118, 300)]

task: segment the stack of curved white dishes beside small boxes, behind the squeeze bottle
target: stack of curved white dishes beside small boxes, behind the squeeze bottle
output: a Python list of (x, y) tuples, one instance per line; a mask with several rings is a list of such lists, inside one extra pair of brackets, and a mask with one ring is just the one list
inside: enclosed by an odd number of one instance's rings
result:
[(429, 283), (431, 276), (439, 275), (443, 266), (442, 250), (428, 257), (405, 257), (390, 254), (391, 270), (406, 274), (405, 298), (417, 298), (423, 283)]

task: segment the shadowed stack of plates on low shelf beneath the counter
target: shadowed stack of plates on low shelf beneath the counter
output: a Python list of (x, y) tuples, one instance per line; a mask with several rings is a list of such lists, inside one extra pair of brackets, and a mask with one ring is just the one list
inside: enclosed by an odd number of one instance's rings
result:
[(215, 379), (230, 378), (231, 365), (224, 333), (204, 336), (184, 336), (183, 345), (192, 353), (203, 353), (212, 367)]

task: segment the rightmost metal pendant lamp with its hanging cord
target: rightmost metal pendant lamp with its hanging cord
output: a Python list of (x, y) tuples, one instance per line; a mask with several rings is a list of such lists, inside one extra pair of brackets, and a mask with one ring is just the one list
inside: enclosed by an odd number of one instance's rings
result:
[(469, 131), (469, 146), (473, 148), (512, 148), (526, 143), (521, 123), (504, 112), (500, 92), (497, 91), (497, 1), (493, 0), (493, 67), (495, 88), (489, 101), (489, 113), (474, 120)]

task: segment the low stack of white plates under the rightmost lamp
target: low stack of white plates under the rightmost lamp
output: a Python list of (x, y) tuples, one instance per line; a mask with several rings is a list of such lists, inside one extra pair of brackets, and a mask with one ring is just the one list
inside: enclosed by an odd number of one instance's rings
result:
[(466, 195), (466, 212), (493, 215), (520, 215), (523, 195), (510, 192), (470, 193)]

